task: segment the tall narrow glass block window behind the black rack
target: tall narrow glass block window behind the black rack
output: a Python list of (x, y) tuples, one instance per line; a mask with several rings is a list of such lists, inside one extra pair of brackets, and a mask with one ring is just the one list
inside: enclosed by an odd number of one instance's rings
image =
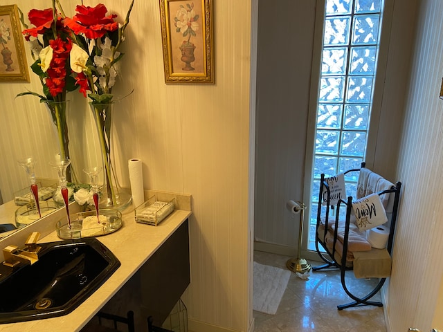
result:
[[(383, 0), (326, 0), (308, 249), (315, 250), (320, 174), (365, 160)], [(355, 176), (347, 180), (356, 182)], [(355, 191), (350, 184), (347, 194)]]

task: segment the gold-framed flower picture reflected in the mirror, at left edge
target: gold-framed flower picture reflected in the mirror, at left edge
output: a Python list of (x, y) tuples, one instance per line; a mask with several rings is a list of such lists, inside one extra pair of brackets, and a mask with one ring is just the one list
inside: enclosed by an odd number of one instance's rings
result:
[(17, 5), (0, 6), (0, 81), (29, 81)]

